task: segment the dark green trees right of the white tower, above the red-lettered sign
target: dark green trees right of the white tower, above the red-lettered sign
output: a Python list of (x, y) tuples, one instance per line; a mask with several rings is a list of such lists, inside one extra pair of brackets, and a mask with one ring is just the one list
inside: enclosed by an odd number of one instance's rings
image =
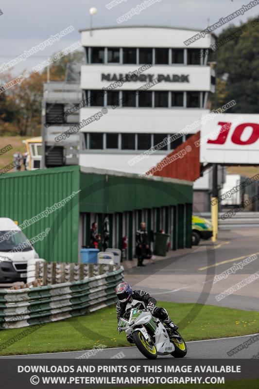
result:
[[(229, 112), (233, 113), (258, 113), (259, 25), (253, 27), (252, 20), (242, 23), (240, 27), (230, 25), (218, 37), (220, 41), (242, 30), (239, 37), (218, 49), (218, 101), (224, 104), (235, 100), (236, 106), (229, 109)], [(221, 77), (224, 73), (228, 73), (229, 76), (227, 81), (222, 82)]]

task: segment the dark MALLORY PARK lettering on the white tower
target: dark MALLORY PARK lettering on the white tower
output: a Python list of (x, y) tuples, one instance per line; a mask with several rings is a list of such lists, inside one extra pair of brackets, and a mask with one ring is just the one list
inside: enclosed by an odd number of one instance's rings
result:
[(158, 82), (190, 82), (189, 74), (111, 74), (111, 73), (102, 73), (102, 81), (120, 81), (124, 80), (127, 82), (130, 81), (140, 81), (140, 82), (152, 82), (155, 79)]

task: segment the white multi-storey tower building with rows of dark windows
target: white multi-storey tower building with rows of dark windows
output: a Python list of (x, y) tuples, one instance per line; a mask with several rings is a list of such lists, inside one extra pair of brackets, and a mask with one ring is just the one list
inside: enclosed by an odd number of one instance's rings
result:
[(195, 34), (147, 26), (81, 31), (86, 53), (81, 88), (87, 101), (80, 109), (80, 122), (87, 122), (80, 130), (81, 166), (144, 173), (199, 130), (190, 128), (148, 158), (128, 163), (209, 113), (215, 73), (204, 53), (214, 37), (187, 47), (184, 41)]

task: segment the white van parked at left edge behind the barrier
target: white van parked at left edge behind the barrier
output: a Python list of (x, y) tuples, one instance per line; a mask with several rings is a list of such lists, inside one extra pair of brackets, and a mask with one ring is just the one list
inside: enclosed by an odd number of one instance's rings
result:
[(0, 217), (0, 283), (27, 280), (27, 261), (39, 258), (17, 224)]

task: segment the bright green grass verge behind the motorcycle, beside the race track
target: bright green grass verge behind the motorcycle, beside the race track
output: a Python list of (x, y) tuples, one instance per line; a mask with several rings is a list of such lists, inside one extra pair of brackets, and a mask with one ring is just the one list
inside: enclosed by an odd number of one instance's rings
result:
[[(259, 312), (162, 301), (158, 301), (157, 305), (168, 310), (186, 341), (259, 332)], [(130, 345), (125, 334), (119, 335), (117, 332), (114, 306), (86, 316), (47, 323), (3, 349), (4, 342), (26, 330), (20, 328), (0, 331), (0, 355), (87, 350), (99, 344), (105, 347)]]

